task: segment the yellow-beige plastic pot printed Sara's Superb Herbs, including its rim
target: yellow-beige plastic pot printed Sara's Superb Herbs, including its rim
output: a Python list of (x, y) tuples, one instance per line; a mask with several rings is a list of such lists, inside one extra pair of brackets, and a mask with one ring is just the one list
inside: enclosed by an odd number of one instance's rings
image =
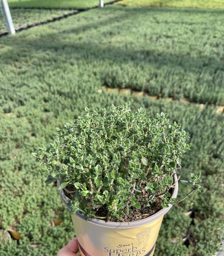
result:
[[(178, 193), (177, 176), (171, 197)], [(57, 181), (57, 187), (60, 186)], [(62, 201), (67, 204), (69, 198), (63, 190), (58, 191)], [(106, 222), (99, 219), (85, 220), (83, 214), (71, 215), (82, 256), (152, 256), (163, 216), (172, 205), (157, 213), (137, 221)], [(71, 206), (68, 206), (72, 210)]]

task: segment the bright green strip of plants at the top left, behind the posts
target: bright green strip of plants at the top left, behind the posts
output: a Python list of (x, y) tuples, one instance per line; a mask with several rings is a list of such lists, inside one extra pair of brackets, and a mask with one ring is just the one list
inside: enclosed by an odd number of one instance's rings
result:
[(88, 8), (99, 5), (99, 0), (8, 0), (8, 3), (9, 7)]

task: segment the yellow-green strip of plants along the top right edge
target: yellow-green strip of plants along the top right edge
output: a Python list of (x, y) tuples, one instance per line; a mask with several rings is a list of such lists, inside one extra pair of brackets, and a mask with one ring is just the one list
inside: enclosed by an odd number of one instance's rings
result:
[(118, 4), (124, 6), (152, 6), (152, 7), (187, 7), (187, 8), (224, 8), (224, 0), (123, 0)]

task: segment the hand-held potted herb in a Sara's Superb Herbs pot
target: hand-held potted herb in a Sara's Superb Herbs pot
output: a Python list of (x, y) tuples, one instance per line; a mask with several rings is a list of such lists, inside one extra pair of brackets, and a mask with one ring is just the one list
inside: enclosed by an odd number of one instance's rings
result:
[(188, 133), (167, 114), (147, 118), (129, 103), (89, 112), (57, 129), (58, 136), (34, 153), (46, 183), (57, 180), (71, 210), (81, 255), (149, 256), (164, 214), (200, 191), (200, 173), (190, 192), (177, 200), (175, 170), (190, 148)]

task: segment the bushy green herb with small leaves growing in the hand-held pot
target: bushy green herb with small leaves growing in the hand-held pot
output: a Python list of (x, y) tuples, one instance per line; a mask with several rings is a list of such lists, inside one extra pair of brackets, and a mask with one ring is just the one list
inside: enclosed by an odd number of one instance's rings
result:
[[(160, 208), (177, 202), (170, 198), (173, 174), (190, 148), (188, 133), (181, 125), (169, 124), (167, 114), (147, 118), (145, 109), (130, 113), (129, 103), (89, 112), (57, 129), (58, 136), (34, 153), (46, 183), (59, 179), (71, 195), (73, 214), (121, 219), (136, 209)], [(192, 174), (189, 196), (200, 190), (200, 173)], [(102, 214), (103, 213), (103, 214)]]

